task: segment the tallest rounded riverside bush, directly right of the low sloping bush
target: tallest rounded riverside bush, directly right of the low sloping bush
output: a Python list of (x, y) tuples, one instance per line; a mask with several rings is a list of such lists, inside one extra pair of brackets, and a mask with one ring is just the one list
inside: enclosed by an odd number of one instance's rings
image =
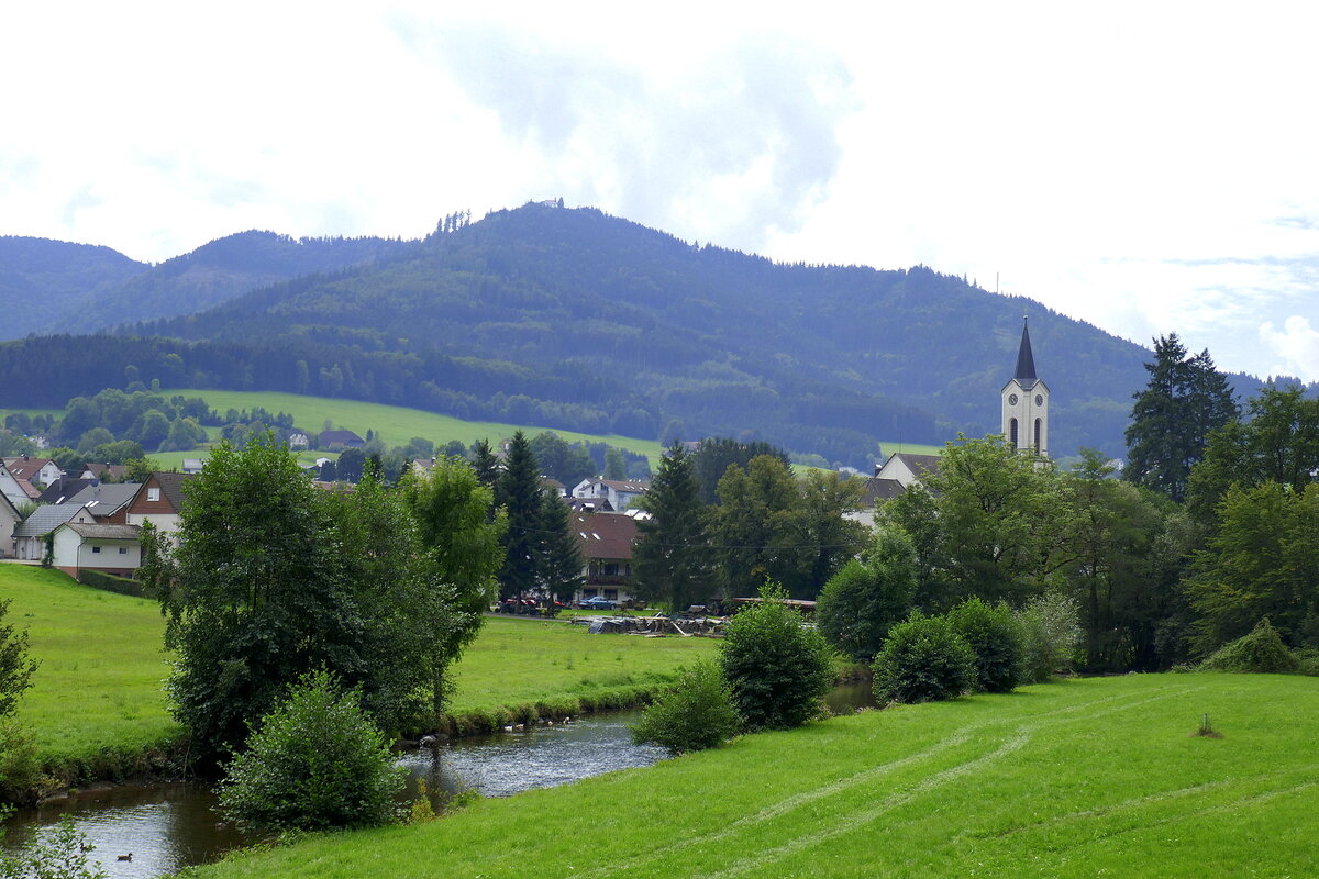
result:
[(801, 726), (823, 709), (834, 684), (832, 651), (785, 604), (787, 593), (766, 585), (760, 604), (728, 622), (719, 664), (733, 706), (751, 730)]

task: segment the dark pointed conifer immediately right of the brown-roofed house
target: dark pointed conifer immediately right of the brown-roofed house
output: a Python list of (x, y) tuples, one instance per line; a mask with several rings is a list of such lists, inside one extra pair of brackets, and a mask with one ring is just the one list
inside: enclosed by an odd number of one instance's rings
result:
[(706, 505), (691, 456), (681, 443), (669, 447), (645, 496), (649, 519), (637, 521), (632, 555), (637, 594), (671, 610), (712, 593)]

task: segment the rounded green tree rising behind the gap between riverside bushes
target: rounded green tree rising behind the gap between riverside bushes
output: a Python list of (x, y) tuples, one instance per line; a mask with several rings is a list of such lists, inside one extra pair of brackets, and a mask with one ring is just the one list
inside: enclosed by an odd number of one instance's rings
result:
[(881, 526), (861, 561), (848, 561), (820, 590), (815, 622), (840, 652), (868, 663), (915, 594), (915, 550), (905, 531)]

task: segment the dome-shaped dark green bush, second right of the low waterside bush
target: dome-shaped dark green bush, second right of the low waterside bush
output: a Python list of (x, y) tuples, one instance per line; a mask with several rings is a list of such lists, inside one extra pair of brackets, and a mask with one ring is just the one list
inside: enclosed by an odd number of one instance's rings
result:
[(874, 658), (874, 695), (884, 702), (956, 698), (975, 684), (976, 652), (947, 617), (913, 611)]

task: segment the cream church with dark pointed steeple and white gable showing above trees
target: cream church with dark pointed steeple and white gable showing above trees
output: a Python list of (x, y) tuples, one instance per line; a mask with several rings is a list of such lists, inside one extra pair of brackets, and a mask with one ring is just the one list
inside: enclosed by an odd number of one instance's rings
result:
[[(1021, 318), (1021, 347), (1017, 369), (1002, 386), (1002, 436), (1016, 449), (1049, 456), (1049, 385), (1035, 376), (1035, 356), (1030, 349), (1030, 328)], [(880, 501), (902, 494), (926, 473), (939, 472), (938, 455), (894, 452), (874, 476), (867, 480), (863, 505), (872, 509)]]

